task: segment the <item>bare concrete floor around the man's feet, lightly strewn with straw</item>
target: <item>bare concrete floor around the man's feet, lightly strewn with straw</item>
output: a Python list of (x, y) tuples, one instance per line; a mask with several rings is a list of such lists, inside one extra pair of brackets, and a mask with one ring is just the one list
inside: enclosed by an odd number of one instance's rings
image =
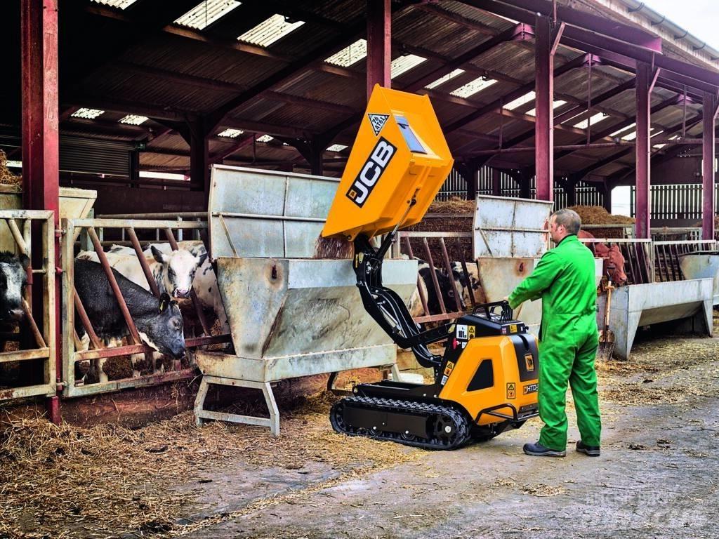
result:
[[(524, 456), (539, 420), (347, 479), (242, 462), (180, 485), (193, 538), (697, 538), (719, 532), (719, 339), (641, 338), (600, 369), (602, 456)], [(344, 475), (341, 475), (344, 474)], [(338, 479), (339, 478), (339, 479)], [(211, 482), (209, 482), (211, 480)], [(329, 482), (329, 486), (328, 485)], [(188, 525), (183, 528), (182, 525)]]

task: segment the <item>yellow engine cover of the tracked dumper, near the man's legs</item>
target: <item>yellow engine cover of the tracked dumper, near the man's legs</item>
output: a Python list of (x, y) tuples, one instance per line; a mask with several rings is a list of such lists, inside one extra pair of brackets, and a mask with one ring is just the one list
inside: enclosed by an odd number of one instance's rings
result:
[[(475, 378), (478, 369), (489, 370), (485, 361), (491, 364), (491, 385), (471, 390), (470, 382)], [(539, 381), (536, 378), (521, 380), (518, 361), (524, 361), (529, 372), (539, 370), (537, 358), (531, 354), (517, 357), (515, 346), (508, 336), (472, 338), (467, 342), (456, 365), (452, 365), (449, 373), (445, 369), (447, 379), (439, 397), (462, 405), (472, 419), (476, 419), (481, 410), (496, 405), (505, 405), (495, 410), (505, 415), (512, 415), (509, 405), (518, 411), (522, 407), (536, 405)], [(477, 425), (500, 421), (503, 419), (483, 414)]]

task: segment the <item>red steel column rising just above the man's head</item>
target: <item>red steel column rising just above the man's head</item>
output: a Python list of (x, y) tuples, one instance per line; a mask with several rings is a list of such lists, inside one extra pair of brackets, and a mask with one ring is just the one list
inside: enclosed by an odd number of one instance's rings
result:
[(534, 159), (536, 162), (536, 198), (554, 200), (554, 55), (549, 17), (536, 17)]

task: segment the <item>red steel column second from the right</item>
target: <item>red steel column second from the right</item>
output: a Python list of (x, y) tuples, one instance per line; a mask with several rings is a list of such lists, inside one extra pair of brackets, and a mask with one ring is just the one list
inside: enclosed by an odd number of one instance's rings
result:
[(649, 126), (651, 124), (651, 67), (649, 64), (636, 65), (636, 224), (634, 234), (637, 238), (649, 238), (651, 224), (649, 218), (651, 162), (649, 150)]

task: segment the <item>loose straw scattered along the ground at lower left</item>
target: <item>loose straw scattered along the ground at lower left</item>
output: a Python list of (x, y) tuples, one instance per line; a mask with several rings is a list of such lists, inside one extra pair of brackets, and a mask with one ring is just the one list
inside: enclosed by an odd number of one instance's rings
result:
[(356, 466), (369, 472), (421, 454), (334, 433), (328, 420), (333, 400), (321, 393), (283, 410), (279, 438), (249, 425), (198, 429), (190, 412), (139, 430), (14, 421), (0, 432), (0, 538), (174, 535), (186, 530), (174, 522), (192, 494), (168, 494), (169, 487), (195, 477), (200, 463), (297, 469), (311, 459), (357, 474)]

